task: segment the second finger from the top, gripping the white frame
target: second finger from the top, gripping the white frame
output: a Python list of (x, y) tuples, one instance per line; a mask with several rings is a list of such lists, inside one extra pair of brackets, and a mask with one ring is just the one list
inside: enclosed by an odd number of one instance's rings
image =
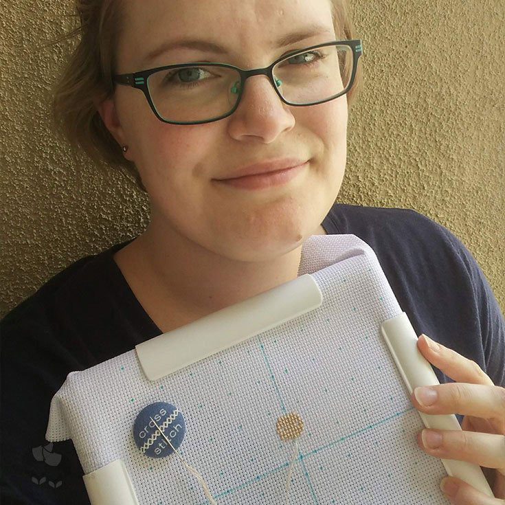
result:
[(415, 388), (410, 397), (414, 407), (425, 414), (495, 419), (493, 427), (505, 434), (505, 388), (500, 386), (451, 382)]

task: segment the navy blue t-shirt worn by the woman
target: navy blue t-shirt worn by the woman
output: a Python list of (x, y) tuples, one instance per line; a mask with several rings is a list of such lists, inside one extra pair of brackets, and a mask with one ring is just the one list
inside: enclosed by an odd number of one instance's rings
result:
[[(416, 335), (472, 359), (505, 387), (504, 316), (456, 236), (414, 210), (339, 203), (322, 225), (327, 234), (355, 234), (374, 249)], [(74, 262), (0, 322), (5, 504), (89, 504), (71, 440), (45, 440), (49, 405), (69, 372), (162, 333), (113, 260), (130, 242)], [(440, 383), (452, 381), (434, 371)]]

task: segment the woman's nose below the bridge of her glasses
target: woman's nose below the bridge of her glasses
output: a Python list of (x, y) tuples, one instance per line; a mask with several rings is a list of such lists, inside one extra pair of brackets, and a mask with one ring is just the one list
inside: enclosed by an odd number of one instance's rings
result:
[(295, 117), (280, 100), (267, 76), (251, 76), (245, 81), (240, 104), (229, 116), (228, 132), (236, 140), (273, 142), (280, 133), (295, 126)]

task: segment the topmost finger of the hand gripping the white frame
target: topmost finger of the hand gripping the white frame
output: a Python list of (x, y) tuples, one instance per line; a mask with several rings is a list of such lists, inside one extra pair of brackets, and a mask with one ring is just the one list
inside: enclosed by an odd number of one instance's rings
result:
[(420, 335), (417, 342), (423, 356), (438, 370), (456, 382), (494, 385), (489, 376), (475, 361), (467, 359), (455, 350), (442, 346), (427, 335)]

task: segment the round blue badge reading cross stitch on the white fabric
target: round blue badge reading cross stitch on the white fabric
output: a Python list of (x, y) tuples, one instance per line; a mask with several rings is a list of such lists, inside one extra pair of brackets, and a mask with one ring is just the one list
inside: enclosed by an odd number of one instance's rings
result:
[[(161, 429), (161, 433), (156, 425)], [(144, 407), (133, 425), (135, 444), (142, 454), (150, 458), (170, 456), (174, 452), (170, 444), (178, 449), (185, 433), (186, 425), (179, 409), (171, 403), (162, 401)]]

